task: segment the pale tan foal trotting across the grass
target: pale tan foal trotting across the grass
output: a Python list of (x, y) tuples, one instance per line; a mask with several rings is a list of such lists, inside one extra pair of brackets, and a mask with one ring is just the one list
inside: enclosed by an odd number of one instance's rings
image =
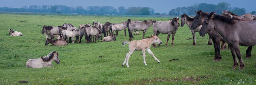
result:
[(123, 41), (122, 45), (124, 46), (125, 44), (129, 44), (129, 53), (126, 54), (126, 57), (124, 59), (124, 63), (122, 64), (122, 66), (126, 63), (126, 66), (129, 67), (128, 61), (129, 61), (129, 57), (130, 55), (135, 51), (135, 50), (140, 50), (142, 51), (143, 54), (143, 60), (144, 60), (144, 64), (146, 64), (146, 54), (145, 51), (147, 51), (149, 54), (151, 54), (155, 60), (160, 63), (160, 61), (155, 57), (154, 53), (151, 52), (151, 50), (149, 49), (151, 44), (153, 43), (157, 43), (157, 44), (162, 44), (162, 41), (156, 36), (156, 35), (151, 35), (151, 37), (148, 37), (146, 39), (143, 40), (134, 40), (134, 41)]

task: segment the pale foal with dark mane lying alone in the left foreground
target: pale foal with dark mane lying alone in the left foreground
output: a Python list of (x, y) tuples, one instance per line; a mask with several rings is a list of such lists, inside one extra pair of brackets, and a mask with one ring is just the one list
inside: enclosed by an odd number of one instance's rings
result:
[(57, 51), (53, 51), (45, 57), (42, 56), (41, 58), (38, 58), (38, 59), (29, 59), (26, 63), (26, 67), (27, 68), (54, 67), (54, 65), (51, 65), (52, 60), (54, 60), (57, 64), (60, 64), (59, 53)]

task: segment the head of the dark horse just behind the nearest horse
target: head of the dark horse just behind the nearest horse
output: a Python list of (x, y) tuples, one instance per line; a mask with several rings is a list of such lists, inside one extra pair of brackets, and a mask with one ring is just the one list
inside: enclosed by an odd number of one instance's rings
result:
[(198, 10), (198, 12), (196, 12), (196, 16), (194, 17), (194, 21), (191, 25), (191, 29), (195, 30), (198, 26), (202, 25), (203, 24), (203, 21), (205, 20), (206, 18), (206, 15), (208, 13), (204, 13), (202, 12), (201, 10)]

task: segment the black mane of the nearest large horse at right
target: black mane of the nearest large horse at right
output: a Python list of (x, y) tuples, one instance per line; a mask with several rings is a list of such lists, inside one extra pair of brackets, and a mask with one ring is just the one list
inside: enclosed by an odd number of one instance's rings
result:
[(225, 17), (225, 16), (221, 16), (221, 15), (215, 14), (215, 11), (211, 12), (207, 16), (207, 19), (210, 19), (212, 15), (214, 15), (214, 17), (212, 19), (220, 19), (222, 22), (226, 22), (226, 23), (228, 23), (230, 25), (236, 24), (236, 22), (234, 20), (239, 20), (240, 21), (240, 19), (238, 19), (238, 18), (229, 18), (229, 17)]

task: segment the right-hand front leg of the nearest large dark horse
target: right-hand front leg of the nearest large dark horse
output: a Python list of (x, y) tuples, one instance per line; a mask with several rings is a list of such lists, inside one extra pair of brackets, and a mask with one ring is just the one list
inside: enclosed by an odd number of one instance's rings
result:
[(237, 57), (238, 57), (238, 59), (239, 59), (239, 63), (240, 63), (239, 70), (242, 70), (243, 67), (244, 67), (244, 63), (243, 63), (243, 60), (242, 60), (242, 58), (241, 58), (240, 49), (239, 49), (239, 44), (238, 44), (238, 43), (237, 43), (237, 44), (233, 44), (233, 49), (234, 49), (234, 51), (236, 52)]

